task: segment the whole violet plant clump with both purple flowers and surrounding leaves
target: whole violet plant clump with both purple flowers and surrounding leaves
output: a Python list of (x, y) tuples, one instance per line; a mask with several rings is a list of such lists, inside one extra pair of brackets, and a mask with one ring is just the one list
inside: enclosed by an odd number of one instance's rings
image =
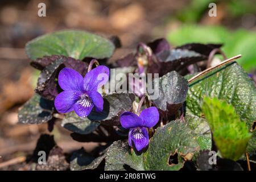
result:
[[(114, 40), (114, 41), (113, 41)], [(171, 47), (166, 39), (139, 43), (114, 63), (121, 46), (85, 31), (59, 31), (28, 42), (26, 52), (40, 76), (35, 95), (19, 109), (19, 123), (55, 122), (79, 142), (105, 142), (91, 153), (83, 148), (68, 162), (52, 137), (42, 135), (34, 152), (47, 148), (48, 169), (84, 170), (218, 170), (244, 169), (239, 161), (256, 156), (256, 89), (232, 61), (189, 80), (207, 67), (221, 44), (191, 43)], [(158, 73), (158, 97), (138, 92), (107, 92), (110, 73)], [(157, 83), (157, 84), (156, 84)], [(138, 86), (134, 80), (127, 83)], [(139, 85), (148, 80), (139, 79)], [(102, 92), (100, 92), (101, 90)], [(49, 140), (51, 142), (49, 142)], [(209, 151), (217, 164), (209, 164)], [(225, 162), (223, 162), (223, 160)], [(36, 160), (31, 160), (35, 162)], [(36, 169), (42, 169), (36, 164)]]

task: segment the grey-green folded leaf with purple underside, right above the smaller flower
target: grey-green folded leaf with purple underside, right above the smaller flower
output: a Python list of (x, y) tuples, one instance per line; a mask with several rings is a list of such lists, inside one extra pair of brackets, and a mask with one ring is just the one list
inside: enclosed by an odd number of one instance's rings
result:
[(155, 78), (152, 88), (155, 89), (155, 92), (154, 95), (150, 94), (149, 97), (153, 100), (156, 107), (173, 115), (185, 101), (188, 82), (179, 73), (172, 71), (162, 77)]

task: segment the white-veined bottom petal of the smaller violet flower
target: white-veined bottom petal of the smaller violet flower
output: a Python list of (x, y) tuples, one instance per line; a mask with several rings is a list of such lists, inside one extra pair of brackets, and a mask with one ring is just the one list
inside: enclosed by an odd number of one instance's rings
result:
[(129, 145), (132, 146), (134, 143), (137, 151), (141, 151), (143, 148), (148, 146), (149, 139), (146, 127), (135, 127), (129, 131)]

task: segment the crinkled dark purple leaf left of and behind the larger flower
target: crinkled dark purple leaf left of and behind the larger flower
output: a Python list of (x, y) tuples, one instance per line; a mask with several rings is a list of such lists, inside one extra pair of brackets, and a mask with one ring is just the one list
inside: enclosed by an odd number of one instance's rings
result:
[[(45, 56), (43, 60), (51, 61), (41, 72), (38, 78), (38, 85), (35, 89), (35, 92), (40, 94), (40, 96), (47, 98), (48, 100), (54, 100), (54, 98), (61, 92), (61, 89), (58, 86), (56, 81), (57, 76), (61, 69), (67, 67), (75, 69), (82, 76), (85, 75), (88, 69), (88, 64), (80, 60), (75, 60), (72, 57), (65, 56)], [(44, 65), (40, 64), (41, 62), (32, 62), (35, 63), (38, 67), (43, 67)]]

